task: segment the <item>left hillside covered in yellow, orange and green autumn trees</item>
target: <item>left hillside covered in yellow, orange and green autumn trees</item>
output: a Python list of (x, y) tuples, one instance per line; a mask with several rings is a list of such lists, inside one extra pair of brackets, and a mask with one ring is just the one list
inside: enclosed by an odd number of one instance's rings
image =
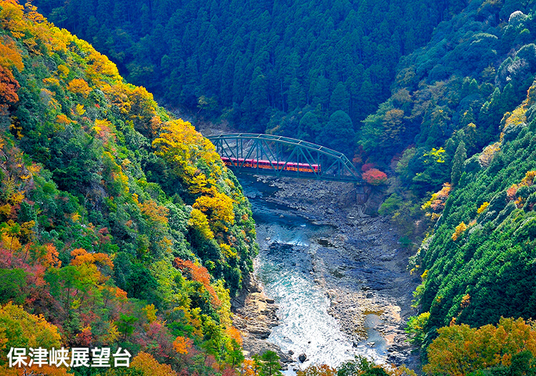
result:
[(254, 242), (207, 139), (34, 6), (0, 1), (1, 375), (19, 375), (11, 347), (39, 346), (127, 348), (129, 375), (231, 369)]

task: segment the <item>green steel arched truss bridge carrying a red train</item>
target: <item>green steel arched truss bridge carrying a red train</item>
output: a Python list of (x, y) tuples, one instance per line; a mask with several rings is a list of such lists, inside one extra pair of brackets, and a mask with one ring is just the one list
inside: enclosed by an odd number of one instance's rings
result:
[(311, 142), (252, 133), (207, 138), (237, 173), (362, 183), (361, 174), (344, 154)]

